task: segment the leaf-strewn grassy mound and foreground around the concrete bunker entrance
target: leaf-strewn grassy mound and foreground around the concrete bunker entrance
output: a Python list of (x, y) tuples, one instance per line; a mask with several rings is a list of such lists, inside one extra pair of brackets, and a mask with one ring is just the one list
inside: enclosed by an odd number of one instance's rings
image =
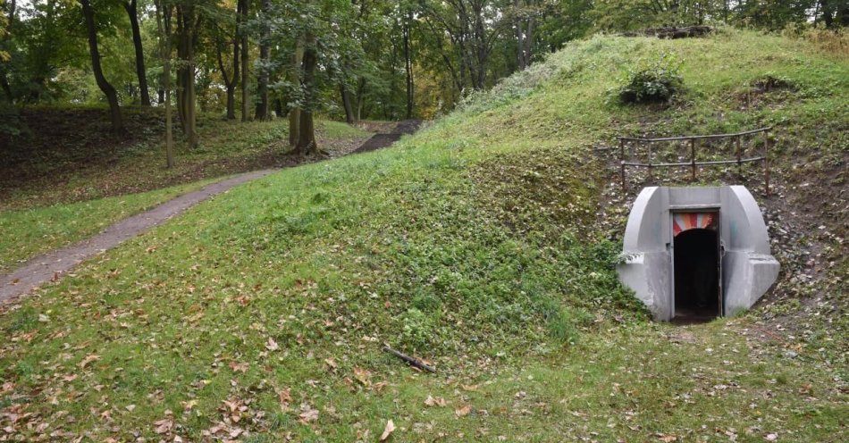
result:
[[(662, 49), (685, 58), (687, 103), (605, 103), (622, 67)], [(804, 95), (737, 112), (736, 89), (766, 71)], [(847, 96), (845, 64), (784, 38), (578, 43), (395, 148), (242, 186), (11, 306), (0, 407), (37, 414), (0, 424), (92, 439), (374, 441), (391, 419), (399, 441), (841, 441), (840, 316), (810, 342), (749, 317), (648, 322), (616, 282), (610, 226), (593, 226), (608, 183), (590, 148), (775, 123), (789, 167), (814, 146), (841, 154)], [(811, 127), (827, 141), (805, 145)], [(440, 372), (411, 372), (382, 342)]]

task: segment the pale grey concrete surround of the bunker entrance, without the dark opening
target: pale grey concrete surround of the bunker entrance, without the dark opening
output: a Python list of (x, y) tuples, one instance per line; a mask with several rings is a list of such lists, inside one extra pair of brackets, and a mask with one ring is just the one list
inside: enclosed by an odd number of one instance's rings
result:
[[(692, 226), (682, 227), (681, 219), (687, 218)], [(719, 231), (720, 315), (751, 307), (778, 277), (767, 226), (745, 187), (644, 188), (628, 216), (626, 259), (618, 273), (656, 320), (669, 321), (676, 315), (675, 235), (711, 227)]]

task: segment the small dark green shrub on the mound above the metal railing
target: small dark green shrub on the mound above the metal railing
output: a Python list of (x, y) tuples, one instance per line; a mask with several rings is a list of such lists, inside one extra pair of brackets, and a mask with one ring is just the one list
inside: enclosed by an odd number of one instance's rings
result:
[(618, 96), (622, 103), (668, 102), (684, 88), (681, 63), (675, 54), (663, 53), (651, 62), (641, 61), (629, 70)]

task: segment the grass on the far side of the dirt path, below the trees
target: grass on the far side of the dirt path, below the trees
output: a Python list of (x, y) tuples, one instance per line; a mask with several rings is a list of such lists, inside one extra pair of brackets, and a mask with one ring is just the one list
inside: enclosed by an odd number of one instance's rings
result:
[[(5, 194), (0, 203), (0, 272), (10, 271), (15, 264), (35, 255), (88, 238), (115, 221), (221, 180), (231, 171), (273, 167), (277, 164), (274, 159), (282, 157), (268, 153), (279, 154), (285, 149), (288, 137), (285, 120), (236, 123), (207, 118), (204, 122), (203, 146), (195, 151), (178, 147), (176, 167), (172, 170), (164, 168), (162, 147), (144, 142), (127, 147), (114, 163), (97, 164), (97, 167), (87, 168), (69, 159), (53, 158), (48, 162), (51, 167), (70, 172), (49, 171), (45, 182), (24, 181), (20, 188)], [(337, 121), (319, 121), (318, 132), (324, 147), (356, 147), (370, 135)], [(56, 134), (57, 138), (67, 136), (62, 131)], [(350, 146), (346, 149), (350, 150)], [(268, 163), (257, 160), (263, 153)], [(69, 173), (63, 175), (65, 172)], [(57, 174), (63, 180), (52, 181)], [(168, 183), (181, 182), (188, 183), (162, 188)], [(133, 193), (139, 189), (156, 190)], [(104, 195), (107, 197), (99, 198)]]

